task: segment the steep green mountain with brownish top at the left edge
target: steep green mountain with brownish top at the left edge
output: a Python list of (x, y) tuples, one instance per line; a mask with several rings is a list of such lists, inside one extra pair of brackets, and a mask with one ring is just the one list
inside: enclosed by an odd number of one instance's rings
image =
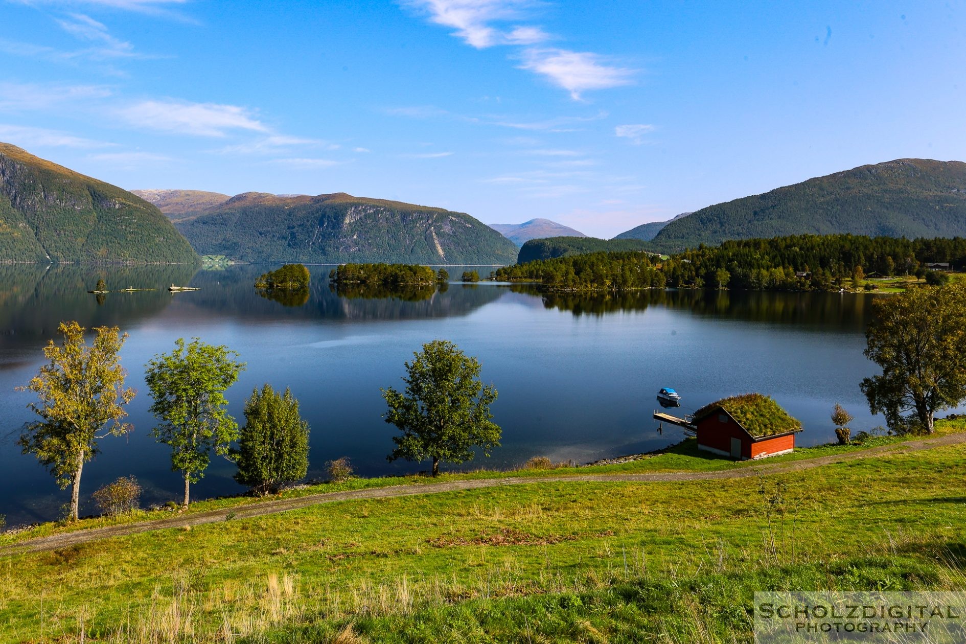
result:
[(0, 262), (194, 264), (160, 210), (127, 190), (0, 143)]

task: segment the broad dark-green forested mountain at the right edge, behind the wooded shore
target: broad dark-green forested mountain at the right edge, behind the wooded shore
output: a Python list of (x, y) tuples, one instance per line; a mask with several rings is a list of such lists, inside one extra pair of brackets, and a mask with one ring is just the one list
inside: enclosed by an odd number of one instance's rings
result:
[(966, 163), (902, 158), (696, 210), (653, 240), (664, 251), (725, 239), (850, 233), (966, 236)]

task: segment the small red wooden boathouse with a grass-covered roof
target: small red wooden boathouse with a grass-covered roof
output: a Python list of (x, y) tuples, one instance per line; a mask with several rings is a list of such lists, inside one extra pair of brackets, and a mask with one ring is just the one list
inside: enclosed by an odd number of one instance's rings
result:
[(787, 454), (802, 424), (768, 396), (744, 394), (695, 413), (697, 448), (738, 461)]

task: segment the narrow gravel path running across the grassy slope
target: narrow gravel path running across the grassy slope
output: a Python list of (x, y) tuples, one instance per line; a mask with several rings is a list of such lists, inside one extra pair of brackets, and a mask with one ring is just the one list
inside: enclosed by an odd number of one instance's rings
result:
[(18, 552), (33, 552), (38, 550), (54, 550), (77, 544), (84, 544), (99, 539), (109, 537), (121, 537), (125, 535), (148, 532), (151, 530), (163, 530), (165, 528), (179, 528), (185, 525), (202, 525), (223, 521), (229, 514), (234, 518), (261, 517), (263, 515), (273, 515), (288, 510), (298, 510), (319, 503), (332, 503), (335, 501), (348, 501), (353, 499), (367, 498), (388, 498), (396, 496), (412, 496), (414, 494), (436, 494), (440, 492), (477, 490), (480, 488), (496, 488), (498, 486), (513, 486), (525, 483), (547, 483), (562, 481), (589, 481), (599, 483), (652, 483), (669, 481), (709, 481), (717, 479), (744, 479), (757, 474), (785, 474), (788, 472), (798, 472), (821, 465), (834, 462), (857, 461), (884, 454), (905, 454), (920, 450), (936, 449), (948, 445), (958, 445), (966, 443), (966, 434), (947, 434), (945, 436), (922, 438), (911, 440), (894, 445), (883, 445), (867, 450), (849, 452), (846, 454), (836, 454), (833, 456), (823, 456), (816, 459), (806, 459), (793, 462), (761, 463), (756, 466), (735, 467), (714, 472), (655, 472), (650, 474), (570, 474), (565, 476), (540, 476), (540, 477), (512, 477), (501, 479), (477, 479), (472, 481), (446, 481), (442, 483), (415, 484), (409, 486), (392, 486), (388, 488), (375, 488), (371, 490), (350, 490), (343, 492), (327, 492), (325, 494), (311, 494), (298, 498), (276, 499), (271, 501), (259, 501), (249, 505), (237, 506), (234, 508), (222, 508), (209, 512), (199, 512), (196, 514), (160, 518), (139, 523), (128, 523), (126, 525), (111, 525), (103, 528), (91, 528), (67, 532), (64, 534), (51, 535), (49, 537), (38, 537), (29, 541), (23, 541), (11, 546), (0, 547), (0, 556), (14, 554)]

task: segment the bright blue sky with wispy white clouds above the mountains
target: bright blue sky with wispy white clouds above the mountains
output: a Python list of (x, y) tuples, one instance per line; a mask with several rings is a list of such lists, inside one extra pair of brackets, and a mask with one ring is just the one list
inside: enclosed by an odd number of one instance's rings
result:
[(0, 141), (126, 188), (349, 192), (598, 237), (966, 160), (966, 4), (0, 0)]

